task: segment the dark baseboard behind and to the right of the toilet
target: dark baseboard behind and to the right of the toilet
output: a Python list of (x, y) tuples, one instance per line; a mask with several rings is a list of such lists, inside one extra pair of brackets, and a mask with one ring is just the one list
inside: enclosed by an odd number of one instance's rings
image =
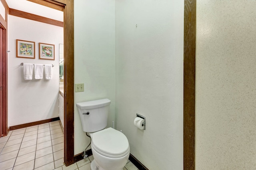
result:
[[(84, 154), (84, 152), (80, 153), (80, 154), (76, 154), (74, 156), (74, 162), (78, 162), (79, 160), (84, 159), (84, 156), (82, 156)], [(86, 150), (86, 154), (89, 156), (92, 155), (92, 149), (88, 149)], [(148, 170), (148, 168), (146, 168), (146, 166), (144, 166), (138, 159), (136, 159), (132, 154), (130, 154), (129, 156), (129, 160), (139, 169), (139, 170)]]

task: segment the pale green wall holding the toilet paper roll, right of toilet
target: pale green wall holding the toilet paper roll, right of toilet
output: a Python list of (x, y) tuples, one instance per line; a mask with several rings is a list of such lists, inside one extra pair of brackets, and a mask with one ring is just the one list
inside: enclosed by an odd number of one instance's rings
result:
[(116, 128), (148, 169), (182, 170), (184, 2), (116, 0), (115, 11)]

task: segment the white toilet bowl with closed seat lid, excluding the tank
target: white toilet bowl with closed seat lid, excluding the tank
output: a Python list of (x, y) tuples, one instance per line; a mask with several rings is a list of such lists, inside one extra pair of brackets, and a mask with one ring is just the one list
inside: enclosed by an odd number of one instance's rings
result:
[(90, 136), (94, 156), (91, 170), (123, 170), (130, 155), (126, 136), (111, 127), (90, 133)]

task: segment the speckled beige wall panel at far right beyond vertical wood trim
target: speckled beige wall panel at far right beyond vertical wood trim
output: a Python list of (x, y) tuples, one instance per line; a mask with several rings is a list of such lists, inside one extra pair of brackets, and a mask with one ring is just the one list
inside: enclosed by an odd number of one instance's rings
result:
[(256, 169), (256, 2), (196, 4), (196, 169)]

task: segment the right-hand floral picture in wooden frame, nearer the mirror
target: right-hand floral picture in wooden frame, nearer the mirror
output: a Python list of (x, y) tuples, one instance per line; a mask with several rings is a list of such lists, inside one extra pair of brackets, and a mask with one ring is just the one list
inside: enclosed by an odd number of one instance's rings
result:
[(55, 60), (54, 45), (39, 43), (39, 59)]

